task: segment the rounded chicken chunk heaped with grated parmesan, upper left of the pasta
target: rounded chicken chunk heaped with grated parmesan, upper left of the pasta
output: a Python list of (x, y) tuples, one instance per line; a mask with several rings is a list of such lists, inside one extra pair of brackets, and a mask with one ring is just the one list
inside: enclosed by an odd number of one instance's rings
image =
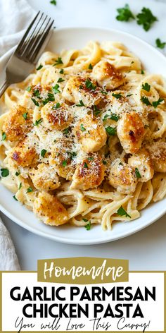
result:
[(57, 131), (64, 130), (72, 121), (70, 107), (55, 102), (49, 102), (42, 107), (41, 118), (46, 128)]

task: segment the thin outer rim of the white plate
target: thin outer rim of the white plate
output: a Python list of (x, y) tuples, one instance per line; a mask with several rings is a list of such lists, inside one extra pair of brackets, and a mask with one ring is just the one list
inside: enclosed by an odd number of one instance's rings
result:
[[(152, 50), (153, 53), (155, 52), (155, 54), (158, 57), (161, 57), (162, 60), (165, 61), (166, 64), (166, 57), (164, 54), (162, 54), (162, 52), (160, 52), (158, 49), (155, 49), (155, 47), (153, 47), (151, 44), (148, 44), (148, 42), (146, 42), (145, 40), (142, 40), (141, 38), (130, 34), (129, 32), (123, 32), (122, 30), (117, 30), (117, 29), (112, 29), (112, 28), (103, 28), (103, 27), (98, 27), (98, 26), (78, 26), (78, 27), (63, 27), (63, 28), (56, 28), (55, 30), (53, 30), (53, 33), (56, 34), (56, 32), (63, 32), (65, 30), (102, 30), (103, 32), (113, 32), (113, 33), (120, 33), (121, 35), (126, 35), (127, 37), (129, 37), (130, 39), (134, 40), (135, 42), (138, 41), (139, 43), (141, 42), (141, 44), (144, 44), (146, 46), (146, 48), (148, 47), (148, 49)], [(15, 49), (16, 46), (12, 47), (11, 49), (8, 50), (8, 52), (6, 52), (6, 54), (4, 54), (4, 56), (1, 57), (0, 63), (3, 61), (8, 60), (8, 58), (11, 56), (13, 50)], [(47, 47), (46, 47), (47, 48)], [(5, 69), (6, 66), (4, 66)], [(164, 200), (164, 199), (162, 199)], [(155, 203), (154, 203), (155, 204)], [(156, 202), (157, 204), (157, 202)], [(24, 229), (27, 229), (28, 231), (32, 232), (33, 234), (36, 234), (37, 236), (42, 236), (44, 238), (49, 238), (52, 241), (58, 241), (59, 243), (66, 243), (66, 244), (73, 244), (73, 245), (95, 245), (95, 244), (100, 244), (100, 243), (109, 243), (112, 241), (117, 241), (118, 239), (121, 238), (125, 238), (127, 236), (131, 236), (132, 234), (135, 234), (136, 232), (139, 232), (143, 229), (145, 229), (147, 226), (150, 226), (151, 224), (153, 224), (154, 222), (156, 222), (158, 219), (160, 219), (160, 217), (162, 217), (165, 213), (166, 213), (166, 207), (163, 207), (162, 212), (157, 212), (155, 214), (155, 217), (151, 218), (148, 220), (148, 222), (146, 222), (146, 224), (142, 225), (142, 226), (134, 226), (134, 229), (131, 228), (131, 231), (127, 230), (127, 231), (122, 231), (122, 234), (119, 235), (113, 235), (110, 238), (111, 235), (111, 231), (106, 231), (106, 234), (109, 232), (109, 236), (108, 238), (95, 238), (94, 240), (91, 239), (79, 239), (78, 241), (75, 240), (74, 238), (66, 238), (66, 237), (61, 237), (61, 236), (56, 236), (56, 235), (51, 235), (48, 233), (45, 233), (44, 231), (38, 230), (33, 228), (32, 226), (25, 224), (25, 222), (23, 222), (21, 219), (18, 219), (18, 217), (15, 217), (11, 212), (9, 212), (8, 210), (6, 210), (6, 208), (1, 205), (0, 202), (0, 210), (2, 213), (4, 213), (9, 219), (11, 219), (13, 222), (15, 222), (16, 224), (18, 224), (19, 226), (22, 226)], [(146, 210), (146, 209), (145, 209)], [(42, 223), (42, 222), (41, 222)], [(130, 223), (130, 222), (129, 222)], [(132, 222), (131, 222), (132, 223)], [(107, 234), (108, 235), (108, 234)]]

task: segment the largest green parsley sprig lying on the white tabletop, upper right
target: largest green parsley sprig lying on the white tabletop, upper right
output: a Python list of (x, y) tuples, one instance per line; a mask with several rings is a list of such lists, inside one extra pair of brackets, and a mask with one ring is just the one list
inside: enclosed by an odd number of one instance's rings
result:
[(139, 25), (143, 25), (143, 29), (148, 31), (151, 28), (151, 25), (157, 21), (158, 18), (153, 16), (151, 9), (143, 7), (141, 13), (136, 15), (136, 22)]

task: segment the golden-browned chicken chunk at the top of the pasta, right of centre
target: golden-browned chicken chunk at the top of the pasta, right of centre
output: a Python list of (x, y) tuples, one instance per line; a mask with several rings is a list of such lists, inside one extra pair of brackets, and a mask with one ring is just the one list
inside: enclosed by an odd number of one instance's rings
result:
[(125, 82), (123, 75), (106, 60), (101, 60), (93, 68), (93, 78), (100, 87), (115, 89)]

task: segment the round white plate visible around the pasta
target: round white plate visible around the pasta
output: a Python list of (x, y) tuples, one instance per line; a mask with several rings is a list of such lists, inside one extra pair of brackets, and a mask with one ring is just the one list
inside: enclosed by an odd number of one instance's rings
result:
[[(64, 28), (53, 32), (49, 45), (46, 49), (52, 52), (60, 52), (62, 49), (84, 47), (89, 40), (112, 40), (124, 43), (129, 50), (139, 56), (143, 66), (150, 73), (159, 73), (166, 77), (166, 59), (160, 52), (151, 47), (139, 38), (117, 30), (101, 28)], [(8, 56), (11, 52), (8, 52)], [(8, 56), (3, 57), (0, 63), (0, 73), (4, 69), (4, 64)], [(96, 244), (115, 241), (116, 239), (129, 236), (139, 231), (149, 224), (155, 222), (166, 212), (166, 198), (160, 202), (148, 206), (141, 212), (141, 217), (131, 222), (118, 222), (113, 224), (112, 231), (102, 231), (101, 226), (92, 226), (91, 231), (84, 227), (75, 226), (46, 226), (39, 222), (34, 214), (13, 200), (13, 194), (0, 185), (0, 209), (10, 219), (12, 219), (25, 229), (55, 241), (71, 244)]]

